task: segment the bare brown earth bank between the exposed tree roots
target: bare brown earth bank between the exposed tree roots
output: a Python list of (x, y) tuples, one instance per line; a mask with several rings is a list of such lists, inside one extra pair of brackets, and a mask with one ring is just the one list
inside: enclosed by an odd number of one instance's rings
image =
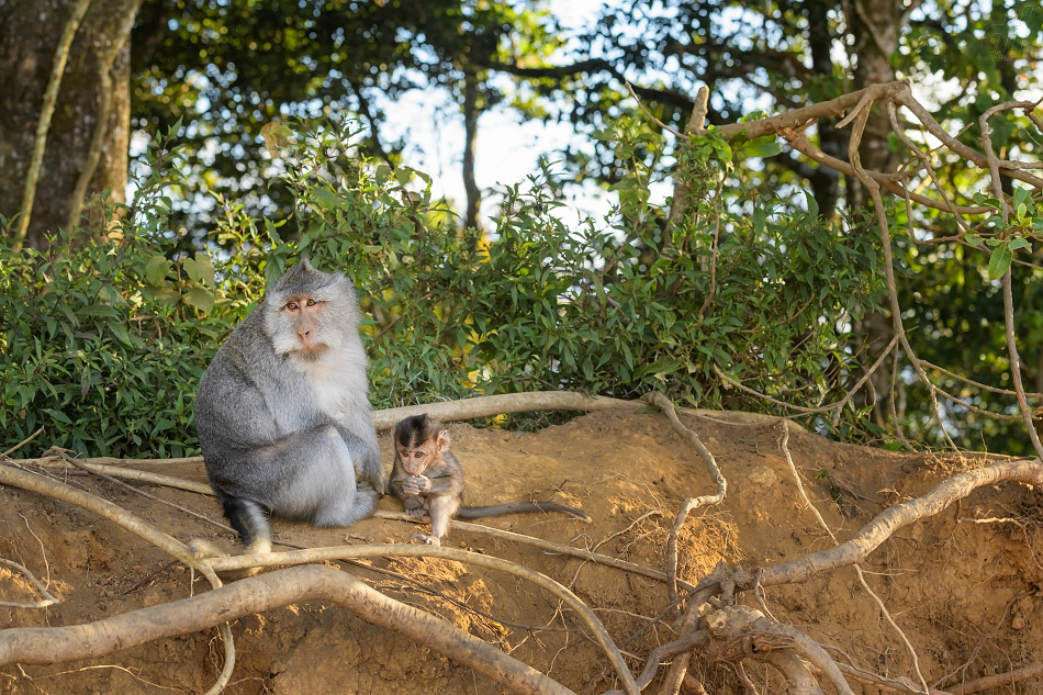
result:
[[(697, 508), (685, 523), (678, 575), (693, 584), (718, 562), (755, 570), (835, 545), (798, 492), (781, 446), (781, 421), (727, 418), (724, 413), (682, 416), (728, 480), (724, 503)], [(661, 414), (603, 412), (523, 434), (459, 424), (449, 429), (468, 477), (468, 503), (554, 500), (581, 506), (593, 517), (592, 524), (582, 524), (559, 515), (514, 515), (484, 519), (483, 525), (596, 549), (647, 568), (664, 569), (668, 533), (684, 501), (716, 491), (704, 460)], [(390, 467), (389, 436), (381, 442)], [(980, 456), (848, 446), (793, 427), (788, 450), (808, 496), (841, 541), (882, 511), (924, 494), (955, 472), (986, 463)], [(141, 468), (205, 481), (201, 464), (153, 462)], [(228, 533), (111, 482), (56, 469), (49, 474), (114, 502), (182, 541), (208, 538), (233, 548)], [(134, 484), (221, 519), (210, 497)], [(401, 511), (391, 497), (380, 506)], [(417, 527), (371, 518), (347, 529), (284, 522), (276, 522), (273, 529), (277, 542), (337, 546), (407, 543)], [(453, 529), (447, 546), (524, 564), (570, 587), (593, 608), (635, 673), (652, 649), (677, 638), (670, 619), (647, 627), (669, 605), (660, 581), (482, 533)], [(193, 585), (186, 567), (112, 522), (14, 487), (0, 487), (0, 558), (26, 567), (60, 599), (46, 608), (0, 607), (4, 627), (79, 625), (184, 598), (209, 586), (198, 576)], [(576, 693), (618, 687), (604, 651), (572, 609), (516, 576), (423, 558), (375, 560), (369, 568), (330, 564), (498, 646)], [(862, 568), (901, 632), (851, 567), (801, 584), (766, 587), (763, 603), (753, 592), (739, 594), (738, 602), (770, 612), (775, 620), (830, 646), (840, 663), (919, 682), (904, 635), (927, 683), (942, 691), (1043, 662), (1039, 489), (1003, 483), (976, 490), (937, 515), (898, 529)], [(20, 571), (0, 565), (0, 601), (36, 599), (38, 594)], [(334, 604), (295, 604), (250, 615), (233, 623), (232, 631), (236, 662), (227, 693), (503, 691), (470, 668)], [(88, 661), (9, 664), (0, 669), (0, 693), (203, 693), (215, 682), (223, 654), (214, 628)], [(664, 671), (646, 692), (660, 691)], [(749, 692), (727, 663), (696, 654), (689, 673), (708, 693)], [(747, 660), (745, 674), (760, 693), (785, 692), (780, 673), (763, 663)], [(852, 687), (855, 693), (894, 692), (854, 681)], [(984, 692), (1043, 694), (1043, 677)]]

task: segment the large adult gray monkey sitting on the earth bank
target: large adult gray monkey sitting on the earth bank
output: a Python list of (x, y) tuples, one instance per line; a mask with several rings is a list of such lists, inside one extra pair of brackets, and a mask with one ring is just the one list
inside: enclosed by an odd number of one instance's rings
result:
[(203, 374), (195, 429), (206, 473), (250, 553), (271, 551), (269, 514), (347, 526), (385, 491), (359, 313), (351, 281), (305, 258)]

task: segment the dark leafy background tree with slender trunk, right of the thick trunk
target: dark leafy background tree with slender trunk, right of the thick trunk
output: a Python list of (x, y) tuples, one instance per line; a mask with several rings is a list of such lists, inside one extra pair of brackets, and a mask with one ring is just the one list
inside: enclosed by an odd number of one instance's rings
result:
[[(269, 161), (258, 145), (266, 123), (358, 114), (368, 126), (360, 154), (396, 165), (405, 143), (385, 142), (389, 114), (378, 103), (414, 89), (447, 89), (466, 130), (461, 212), (467, 226), (476, 226), (478, 121), (503, 99), (479, 66), (522, 35), (529, 52), (553, 43), (543, 3), (515, 4), (317, 0), (302, 11), (295, 0), (149, 3), (135, 31), (143, 46), (135, 53), (135, 125), (152, 131), (182, 119), (200, 192), (272, 212), (289, 197), (265, 184)], [(205, 205), (195, 201), (191, 213), (202, 217), (190, 226), (205, 224)]]

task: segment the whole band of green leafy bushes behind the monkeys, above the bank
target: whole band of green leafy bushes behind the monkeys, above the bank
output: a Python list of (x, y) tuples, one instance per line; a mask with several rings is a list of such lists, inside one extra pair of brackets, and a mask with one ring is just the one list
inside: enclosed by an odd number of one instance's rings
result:
[[(179, 153), (164, 144), (109, 238), (0, 249), (4, 442), (44, 426), (44, 441), (92, 455), (194, 452), (205, 365), (263, 279), (303, 255), (358, 287), (379, 407), (573, 389), (770, 408), (715, 368), (808, 405), (850, 386), (845, 326), (881, 294), (876, 237), (741, 184), (717, 192), (736, 166), (713, 136), (689, 149), (706, 180), (673, 228), (648, 195), (661, 143), (631, 124), (617, 133), (631, 167), (607, 224), (565, 226), (543, 171), (507, 191), (491, 240), (458, 231), (425, 175), (356, 157), (356, 136), (350, 123), (279, 133), (292, 220), (218, 199), (211, 240), (228, 251), (181, 251), (167, 231), (180, 183), (162, 167)], [(292, 240), (280, 235), (290, 222)]]

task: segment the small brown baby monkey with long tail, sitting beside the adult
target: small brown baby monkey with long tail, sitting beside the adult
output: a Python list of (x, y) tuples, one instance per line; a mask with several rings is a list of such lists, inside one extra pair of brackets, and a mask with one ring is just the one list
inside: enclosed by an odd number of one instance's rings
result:
[(405, 512), (431, 519), (431, 533), (413, 538), (440, 546), (449, 530), (449, 519), (479, 519), (523, 512), (564, 512), (590, 523), (581, 509), (556, 502), (512, 502), (484, 507), (463, 506), (463, 469), (449, 451), (449, 433), (426, 414), (414, 415), (395, 425), (395, 463), (389, 490), (403, 501)]

